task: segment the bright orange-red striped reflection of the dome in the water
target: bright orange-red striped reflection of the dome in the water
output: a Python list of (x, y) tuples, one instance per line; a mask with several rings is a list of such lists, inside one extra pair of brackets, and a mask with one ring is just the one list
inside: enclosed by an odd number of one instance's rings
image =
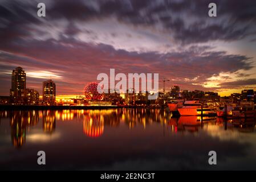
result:
[(100, 137), (103, 134), (104, 121), (101, 115), (88, 115), (84, 118), (83, 131), (88, 137)]

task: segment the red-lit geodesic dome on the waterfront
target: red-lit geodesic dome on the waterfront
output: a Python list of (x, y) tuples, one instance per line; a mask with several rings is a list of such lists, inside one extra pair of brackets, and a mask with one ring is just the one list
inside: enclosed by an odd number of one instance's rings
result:
[(97, 92), (98, 84), (96, 82), (89, 82), (84, 88), (84, 96), (87, 100), (101, 100), (103, 98), (103, 94)]

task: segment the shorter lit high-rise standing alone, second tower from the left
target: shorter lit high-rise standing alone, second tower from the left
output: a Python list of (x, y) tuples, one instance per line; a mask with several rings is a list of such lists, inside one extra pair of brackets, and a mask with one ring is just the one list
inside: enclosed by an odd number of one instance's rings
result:
[(56, 97), (56, 87), (52, 80), (43, 82), (43, 102), (54, 104)]

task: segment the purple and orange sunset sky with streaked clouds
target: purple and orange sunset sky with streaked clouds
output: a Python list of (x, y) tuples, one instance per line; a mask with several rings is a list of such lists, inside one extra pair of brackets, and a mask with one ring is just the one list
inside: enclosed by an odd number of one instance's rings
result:
[[(46, 17), (37, 5), (46, 5)], [(217, 17), (208, 5), (217, 5)], [(0, 95), (22, 67), (27, 88), (83, 94), (99, 73), (159, 73), (165, 90), (256, 90), (256, 1), (0, 0)], [(159, 83), (162, 88), (162, 82)]]

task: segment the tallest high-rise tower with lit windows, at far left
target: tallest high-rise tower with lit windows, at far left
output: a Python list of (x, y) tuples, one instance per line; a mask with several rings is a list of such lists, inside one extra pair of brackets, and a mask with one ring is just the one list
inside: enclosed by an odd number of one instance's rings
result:
[(21, 67), (13, 70), (11, 75), (10, 97), (14, 102), (23, 102), (25, 100), (26, 73)]

